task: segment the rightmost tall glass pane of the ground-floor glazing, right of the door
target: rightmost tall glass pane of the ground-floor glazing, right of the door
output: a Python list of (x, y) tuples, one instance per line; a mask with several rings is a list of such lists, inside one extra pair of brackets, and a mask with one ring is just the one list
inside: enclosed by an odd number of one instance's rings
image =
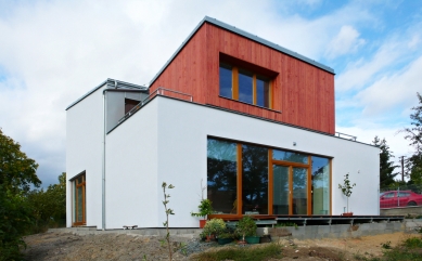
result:
[(330, 159), (312, 156), (312, 214), (330, 214)]

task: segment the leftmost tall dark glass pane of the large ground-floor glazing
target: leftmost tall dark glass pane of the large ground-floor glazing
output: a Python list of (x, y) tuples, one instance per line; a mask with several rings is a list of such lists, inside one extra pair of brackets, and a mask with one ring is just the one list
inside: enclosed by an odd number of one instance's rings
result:
[(216, 213), (238, 213), (236, 144), (207, 140), (207, 198)]

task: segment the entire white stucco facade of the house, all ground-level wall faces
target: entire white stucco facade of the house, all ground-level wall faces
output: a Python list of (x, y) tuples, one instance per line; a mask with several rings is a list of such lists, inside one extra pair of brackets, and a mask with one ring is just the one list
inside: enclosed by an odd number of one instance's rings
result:
[[(87, 225), (102, 227), (102, 91), (67, 110), (69, 178), (86, 171)], [(88, 113), (89, 112), (89, 113)], [(379, 148), (236, 113), (155, 96), (106, 135), (105, 229), (162, 227), (162, 183), (175, 185), (169, 207), (172, 227), (197, 227), (201, 181), (207, 181), (207, 138), (215, 136), (332, 158), (331, 214), (346, 197), (338, 190), (346, 173), (356, 183), (354, 214), (379, 214)], [(294, 146), (293, 144), (296, 143)], [(72, 182), (67, 183), (67, 226), (72, 225)], [(206, 195), (206, 192), (204, 193)]]

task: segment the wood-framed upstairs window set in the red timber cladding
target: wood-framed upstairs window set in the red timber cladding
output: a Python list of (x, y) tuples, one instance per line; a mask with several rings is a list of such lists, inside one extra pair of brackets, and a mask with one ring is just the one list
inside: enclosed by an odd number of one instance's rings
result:
[(270, 108), (270, 79), (254, 71), (220, 63), (220, 96)]

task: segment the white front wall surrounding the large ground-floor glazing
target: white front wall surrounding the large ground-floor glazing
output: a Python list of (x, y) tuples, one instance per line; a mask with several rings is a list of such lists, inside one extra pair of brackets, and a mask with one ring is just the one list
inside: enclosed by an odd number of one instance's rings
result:
[[(190, 212), (201, 199), (201, 179), (204, 184), (207, 180), (207, 135), (333, 157), (332, 214), (346, 207), (338, 190), (346, 173), (356, 183), (349, 210), (379, 214), (379, 148), (166, 97), (154, 102), (158, 103), (158, 181), (176, 186), (170, 198), (174, 226), (197, 225)], [(159, 205), (161, 198), (156, 200)], [(159, 211), (159, 220), (164, 219)]]

